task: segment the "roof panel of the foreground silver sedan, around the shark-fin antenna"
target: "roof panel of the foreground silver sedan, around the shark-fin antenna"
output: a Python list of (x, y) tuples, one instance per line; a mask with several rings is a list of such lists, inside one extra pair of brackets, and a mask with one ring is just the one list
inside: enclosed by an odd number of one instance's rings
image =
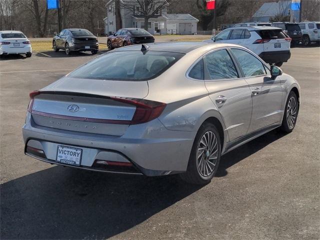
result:
[[(179, 41), (179, 42), (155, 42), (155, 43), (144, 43), (143, 45), (149, 46), (150, 51), (169, 51), (169, 52), (179, 52), (187, 53), (198, 47), (206, 45), (206, 42), (197, 42), (197, 41)], [(113, 51), (137, 51), (141, 49), (141, 45), (130, 45), (125, 47), (120, 47), (114, 49)]]

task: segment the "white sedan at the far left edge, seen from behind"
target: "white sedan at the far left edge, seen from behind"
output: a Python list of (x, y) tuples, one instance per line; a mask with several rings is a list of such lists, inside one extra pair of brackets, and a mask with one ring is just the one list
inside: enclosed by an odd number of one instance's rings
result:
[(32, 55), (31, 43), (21, 31), (0, 31), (0, 56), (8, 54)]

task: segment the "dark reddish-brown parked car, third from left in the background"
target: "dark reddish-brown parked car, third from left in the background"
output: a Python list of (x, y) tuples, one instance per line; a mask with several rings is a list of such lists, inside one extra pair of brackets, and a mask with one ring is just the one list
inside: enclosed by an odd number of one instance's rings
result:
[(109, 50), (116, 47), (154, 42), (154, 37), (142, 28), (121, 28), (107, 37)]

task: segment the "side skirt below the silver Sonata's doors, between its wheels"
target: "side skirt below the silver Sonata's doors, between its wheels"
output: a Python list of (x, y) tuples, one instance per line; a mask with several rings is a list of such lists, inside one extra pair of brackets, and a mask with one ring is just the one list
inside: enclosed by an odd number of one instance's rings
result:
[(263, 128), (260, 128), (258, 130), (252, 131), (252, 132), (250, 132), (244, 136), (241, 136), (231, 142), (227, 142), (226, 146), (225, 146), (225, 150), (223, 153), (221, 153), (221, 155), (237, 148), (240, 145), (243, 145), (244, 143), (247, 143), (250, 140), (253, 140), (254, 138), (256, 138), (258, 136), (263, 135), (264, 133), (267, 133), (267, 132), (279, 127), (280, 125), (281, 125), (280, 122), (276, 122), (275, 124), (268, 125)]

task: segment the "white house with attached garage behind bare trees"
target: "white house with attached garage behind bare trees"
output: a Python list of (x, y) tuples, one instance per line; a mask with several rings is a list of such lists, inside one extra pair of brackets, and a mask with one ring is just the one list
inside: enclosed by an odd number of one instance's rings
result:
[[(120, 8), (121, 28), (139, 27), (144, 28), (144, 17), (139, 14), (139, 6), (134, 4), (134, 0), (120, 0), (121, 4), (132, 5), (131, 9)], [(116, 32), (115, 18), (115, 2), (109, 0), (106, 3), (107, 15), (104, 20), (104, 32), (106, 35)], [(133, 12), (134, 9), (134, 12)], [(133, 14), (134, 13), (134, 14)], [(190, 14), (171, 14), (167, 13), (167, 9), (163, 8), (157, 12), (152, 18), (148, 19), (148, 32), (156, 34), (196, 34), (197, 22), (199, 20)]]

